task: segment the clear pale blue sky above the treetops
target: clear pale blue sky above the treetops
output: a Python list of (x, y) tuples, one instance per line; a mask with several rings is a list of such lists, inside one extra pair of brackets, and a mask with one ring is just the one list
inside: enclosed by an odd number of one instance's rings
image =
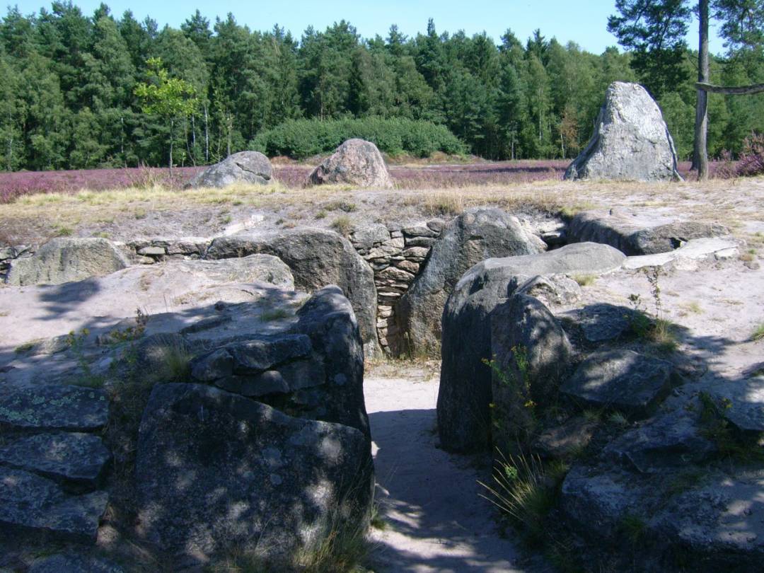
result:
[[(100, 0), (74, 0), (74, 4), (87, 15), (92, 14), (100, 3)], [(253, 30), (268, 30), (274, 24), (279, 24), (292, 31), (296, 37), (310, 24), (322, 30), (343, 18), (358, 28), (363, 37), (374, 37), (375, 34), (387, 36), (390, 24), (398, 24), (400, 31), (411, 36), (424, 32), (427, 19), (435, 18), (435, 28), (439, 33), (464, 30), (471, 35), (486, 31), (498, 41), (503, 31), (511, 28), (525, 42), (536, 28), (541, 28), (542, 34), (548, 39), (557, 37), (562, 44), (572, 40), (584, 50), (594, 53), (601, 53), (607, 46), (617, 44), (615, 37), (608, 34), (606, 29), (607, 16), (615, 11), (615, 0), (198, 0), (196, 3), (183, 3), (182, 8), (176, 2), (147, 0), (112, 0), (105, 3), (112, 8), (115, 16), (129, 8), (138, 20), (149, 15), (160, 26), (170, 24), (174, 28), (199, 8), (211, 22), (215, 21), (215, 16), (225, 17), (228, 12), (232, 12), (240, 24), (247, 24)], [(41, 6), (50, 8), (50, 2), (18, 2), (18, 8), (24, 14), (39, 11)], [(724, 47), (714, 34), (713, 27), (711, 36), (711, 51), (723, 52)], [(691, 47), (698, 44), (697, 25), (691, 28), (688, 42)]]

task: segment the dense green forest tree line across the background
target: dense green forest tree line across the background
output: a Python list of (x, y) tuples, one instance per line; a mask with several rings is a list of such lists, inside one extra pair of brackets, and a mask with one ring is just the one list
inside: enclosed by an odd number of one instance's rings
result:
[[(432, 20), (416, 37), (393, 25), (387, 37), (363, 39), (340, 21), (298, 40), (277, 26), (252, 31), (230, 14), (210, 23), (196, 11), (180, 29), (160, 29), (105, 5), (93, 15), (70, 2), (35, 15), (10, 8), (0, 24), (0, 169), (167, 164), (168, 141), (176, 165), (210, 163), (297, 118), (432, 121), (483, 157), (569, 158), (617, 79), (645, 83), (687, 158), (697, 53), (682, 47), (673, 76), (640, 58), (615, 47), (595, 55), (538, 30), (525, 44), (508, 30), (496, 44), (439, 33)], [(139, 86), (155, 85), (161, 70), (192, 88), (192, 105), (172, 121), (141, 101)], [(736, 45), (711, 57), (711, 78), (761, 83), (760, 50)], [(712, 93), (708, 113), (712, 156), (764, 131), (762, 95)]]

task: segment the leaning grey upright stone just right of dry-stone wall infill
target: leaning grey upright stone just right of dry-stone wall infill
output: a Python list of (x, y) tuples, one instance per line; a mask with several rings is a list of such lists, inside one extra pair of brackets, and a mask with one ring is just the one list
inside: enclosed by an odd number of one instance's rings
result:
[(437, 351), (445, 301), (472, 265), (488, 257), (536, 254), (539, 241), (520, 222), (500, 209), (473, 209), (459, 215), (442, 231), (426, 267), (400, 299), (395, 316), (404, 348), (415, 353)]

